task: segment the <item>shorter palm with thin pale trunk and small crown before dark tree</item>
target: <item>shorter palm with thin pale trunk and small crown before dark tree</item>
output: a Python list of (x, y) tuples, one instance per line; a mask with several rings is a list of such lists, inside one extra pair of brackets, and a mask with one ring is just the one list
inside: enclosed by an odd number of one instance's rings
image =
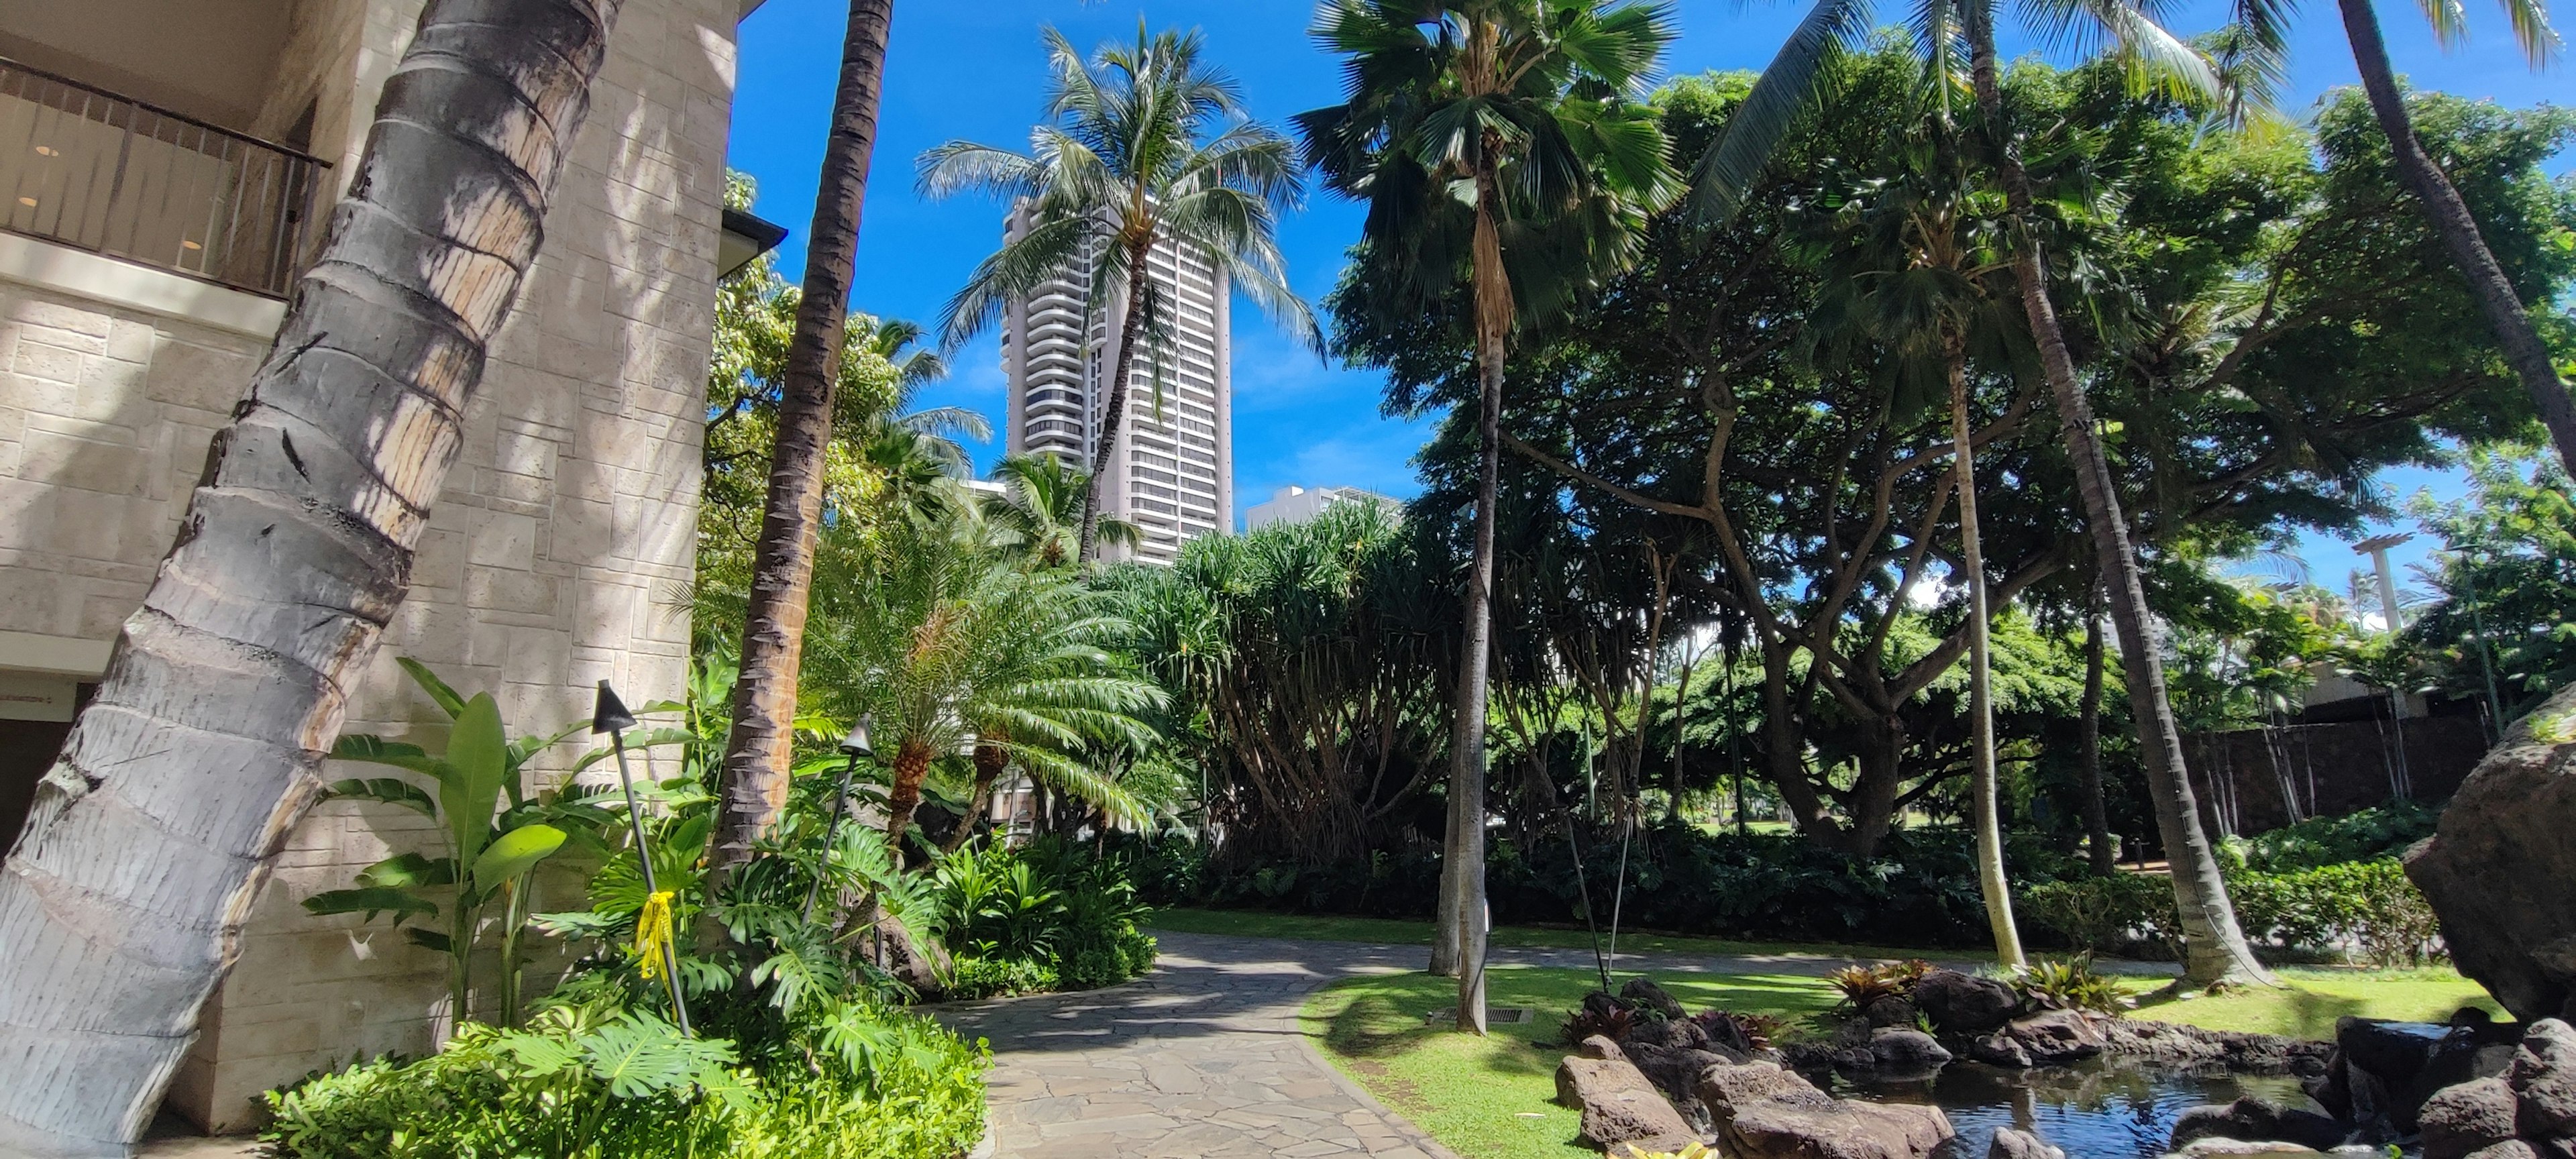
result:
[[(1932, 80), (1932, 77), (1924, 77)], [(1880, 343), (1899, 371), (1899, 407), (1922, 404), (1942, 384), (1950, 397), (1950, 448), (1958, 492), (1958, 580), (1968, 603), (1968, 731), (1971, 801), (1976, 819), (1976, 883), (1986, 899), (1986, 925), (1996, 961), (2027, 966), (2012, 919), (2012, 883), (2004, 876), (2004, 824), (1994, 762), (1994, 667), (1989, 659), (1986, 551), (1976, 518), (1976, 433), (1968, 422), (1968, 348), (2009, 361), (2017, 350), (2014, 319), (2004, 317), (2009, 288), (1994, 294), (2004, 270), (1994, 196), (1981, 188), (1960, 155), (1950, 111), (1932, 103), (1909, 111), (1906, 139), (1891, 147), (1893, 175), (1860, 175), (1837, 214), (1844, 242), (1826, 270), (1826, 317)], [(1847, 299), (1847, 301), (1832, 301)]]

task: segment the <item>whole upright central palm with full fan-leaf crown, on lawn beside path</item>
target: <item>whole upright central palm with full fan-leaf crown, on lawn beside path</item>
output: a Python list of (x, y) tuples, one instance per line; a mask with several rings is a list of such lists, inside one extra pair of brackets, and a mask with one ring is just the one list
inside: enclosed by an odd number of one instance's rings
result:
[[(1471, 286), (1476, 543), (1450, 742), (1450, 832), (1432, 968), (1458, 968), (1458, 1028), (1484, 1033), (1484, 719), (1502, 371), (1515, 319), (1548, 319), (1628, 260), (1669, 203), (1669, 147), (1633, 95), (1667, 10), (1602, 0), (1327, 0), (1345, 103), (1301, 113), (1306, 155), (1368, 201), (1363, 278), (1432, 304)], [(1448, 961), (1443, 961), (1448, 958)]]

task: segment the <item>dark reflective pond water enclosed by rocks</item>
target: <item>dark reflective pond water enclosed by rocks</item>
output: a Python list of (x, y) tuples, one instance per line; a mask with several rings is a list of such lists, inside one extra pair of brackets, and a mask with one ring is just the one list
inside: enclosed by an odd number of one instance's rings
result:
[(1917, 1082), (1842, 1082), (1837, 1095), (1880, 1102), (1935, 1102), (1958, 1138), (1935, 1159), (1986, 1159), (1996, 1128), (2022, 1128), (2063, 1146), (2069, 1159), (2154, 1159), (2166, 1154), (2174, 1120), (2208, 1102), (2244, 1095), (2316, 1110), (2295, 1077), (2192, 1074), (2120, 1059), (2009, 1071), (1950, 1064)]

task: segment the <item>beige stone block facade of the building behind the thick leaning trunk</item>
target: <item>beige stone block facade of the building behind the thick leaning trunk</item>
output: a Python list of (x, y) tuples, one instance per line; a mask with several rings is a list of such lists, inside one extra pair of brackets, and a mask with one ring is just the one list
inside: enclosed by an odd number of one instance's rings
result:
[[(258, 100), (232, 77), (237, 129), (296, 139), (337, 193), (376, 93), (422, 0), (100, 0), (188, 36), (250, 3), (289, 8), (260, 52)], [(438, 500), (412, 592), (353, 698), (350, 729), (435, 744), (438, 711), (394, 667), (415, 657), (492, 690), (515, 729), (587, 716), (590, 685), (677, 695), (688, 618), (703, 379), (714, 325), (724, 144), (742, 0), (626, 0), (590, 121), (546, 219), (536, 273), (502, 330), (464, 453)], [(111, 41), (52, 52), (98, 88), (144, 75)], [(129, 62), (131, 64), (131, 62)], [(77, 80), (77, 77), (75, 77)], [(206, 85), (219, 88), (219, 85)], [(167, 95), (157, 95), (167, 103)], [(209, 100), (206, 118), (216, 103)], [(5, 175), (5, 173), (0, 173)], [(309, 247), (307, 247), (309, 252)], [(240, 399), (281, 304), (28, 234), (0, 234), (0, 724), (67, 719), (82, 675), (142, 603), (206, 443)], [(93, 659), (95, 657), (95, 659)], [(85, 670), (88, 667), (88, 670)], [(26, 747), (26, 744), (21, 744)], [(546, 765), (577, 755), (567, 747)], [(15, 760), (15, 765), (8, 765)], [(41, 773), (41, 768), (36, 768)], [(28, 760), (0, 747), (0, 780)], [(0, 788), (8, 788), (0, 783)], [(299, 901), (422, 819), (327, 804), (291, 837), (250, 917), (240, 966), (206, 1010), (170, 1107), (227, 1131), (260, 1089), (384, 1051), (428, 1051), (446, 1020), (443, 966), (379, 925), (317, 919)], [(15, 822), (10, 822), (15, 834)], [(574, 904), (574, 896), (544, 904)]]

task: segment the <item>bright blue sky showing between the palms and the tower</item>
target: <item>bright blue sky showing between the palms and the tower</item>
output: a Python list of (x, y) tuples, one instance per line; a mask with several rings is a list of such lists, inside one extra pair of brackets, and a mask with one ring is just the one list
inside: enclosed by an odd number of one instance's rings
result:
[[(1798, 21), (1803, 5), (1744, 0), (1682, 0), (1680, 41), (1667, 54), (1669, 72), (1757, 70)], [(768, 0), (742, 23), (742, 75), (734, 98), (729, 160), (760, 180), (760, 216), (791, 229), (781, 270), (804, 268), (804, 229), (814, 211), (832, 82), (840, 64), (842, 0)], [(2223, 8), (2184, 0), (2172, 26), (2184, 33), (2221, 23)], [(876, 165), (860, 227), (858, 281), (850, 301), (884, 317), (938, 319), (940, 304), (999, 237), (999, 206), (958, 198), (945, 203), (914, 193), (912, 160), (940, 142), (971, 139), (1025, 147), (1046, 80), (1038, 28), (1056, 23), (1074, 44), (1090, 46), (1133, 36), (1139, 15), (1157, 28), (1195, 26), (1211, 57), (1244, 85), (1255, 116), (1280, 124), (1291, 113), (1332, 103), (1340, 90), (1334, 62), (1314, 49), (1306, 0), (907, 0), (896, 5), (886, 64), (886, 103), (878, 121)], [(1886, 15), (1901, 15), (1888, 5)], [(2383, 3), (2398, 70), (2416, 85), (2442, 88), (2512, 106), (2566, 100), (2566, 62), (2532, 72), (2494, 8), (2470, 10), (2470, 39), (2439, 52), (2414, 5)], [(2032, 52), (2032, 41), (2007, 36), (2004, 52)], [(2293, 100), (2306, 108), (2318, 93), (2349, 85), (2352, 54), (2334, 5), (2308, 0), (2295, 28)], [(2566, 157), (2558, 162), (2566, 167)], [(1280, 245), (1291, 281), (1309, 299), (1332, 288), (1342, 250), (1358, 234), (1355, 206), (1316, 196), (1283, 221)], [(1388, 495), (1414, 495), (1412, 453), (1425, 425), (1378, 412), (1376, 373), (1324, 366), (1280, 337), (1249, 304), (1236, 301), (1234, 322), (1234, 484), (1236, 507), (1270, 497), (1280, 484), (1347, 484)], [(1002, 415), (1002, 371), (994, 343), (961, 350), (956, 373), (927, 391), (925, 404), (961, 404)], [(999, 446), (979, 453), (992, 464)], [(2401, 495), (2416, 487), (2458, 492), (2445, 471), (2398, 471), (2385, 479)], [(1239, 513), (1236, 513), (1239, 515)], [(2352, 554), (2334, 541), (2303, 549), (2321, 577), (2339, 577)], [(2411, 559), (2414, 554), (2401, 554)]]

